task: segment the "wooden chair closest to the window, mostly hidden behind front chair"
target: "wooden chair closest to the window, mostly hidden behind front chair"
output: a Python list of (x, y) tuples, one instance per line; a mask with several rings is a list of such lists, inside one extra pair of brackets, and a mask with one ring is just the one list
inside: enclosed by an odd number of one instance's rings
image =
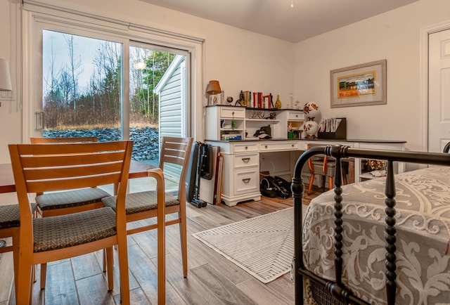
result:
[[(30, 142), (32, 144), (85, 143), (97, 142), (97, 137), (30, 138)], [(83, 188), (82, 190), (65, 190), (63, 192), (37, 194), (36, 203), (41, 216), (55, 216), (104, 207), (101, 199), (110, 195), (110, 193), (100, 188), (89, 187)]]

